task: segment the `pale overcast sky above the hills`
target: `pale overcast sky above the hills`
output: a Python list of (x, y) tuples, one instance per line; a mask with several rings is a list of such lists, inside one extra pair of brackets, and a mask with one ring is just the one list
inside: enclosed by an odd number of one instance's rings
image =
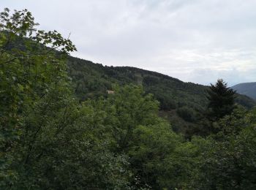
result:
[(256, 0), (1, 0), (71, 32), (77, 56), (208, 85), (256, 81)]

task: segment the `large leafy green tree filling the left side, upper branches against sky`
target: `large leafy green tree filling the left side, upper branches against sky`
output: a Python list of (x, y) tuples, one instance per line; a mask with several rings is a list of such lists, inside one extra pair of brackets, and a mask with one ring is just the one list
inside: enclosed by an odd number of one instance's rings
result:
[(72, 95), (64, 58), (75, 46), (34, 26), (26, 9), (1, 13), (1, 189), (124, 188), (127, 156), (108, 149), (102, 115)]

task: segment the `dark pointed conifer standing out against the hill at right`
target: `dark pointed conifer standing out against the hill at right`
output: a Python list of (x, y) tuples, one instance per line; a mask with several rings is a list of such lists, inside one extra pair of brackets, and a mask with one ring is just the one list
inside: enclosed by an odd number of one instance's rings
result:
[(218, 79), (215, 85), (211, 84), (207, 96), (209, 118), (217, 120), (232, 113), (235, 108), (235, 94), (236, 91), (228, 88), (222, 79)]

